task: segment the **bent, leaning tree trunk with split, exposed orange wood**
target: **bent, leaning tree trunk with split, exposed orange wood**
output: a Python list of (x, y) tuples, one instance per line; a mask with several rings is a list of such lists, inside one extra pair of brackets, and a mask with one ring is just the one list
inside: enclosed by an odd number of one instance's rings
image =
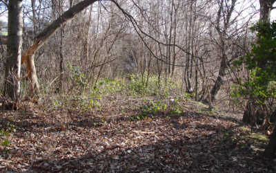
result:
[[(45, 28), (34, 40), (34, 44), (30, 46), (24, 53), (21, 59), (21, 64), (26, 63), (27, 66), (27, 76), (28, 80), (30, 80), (30, 95), (33, 96), (34, 93), (38, 93), (39, 91), (39, 82), (37, 80), (37, 73), (34, 66), (34, 53), (46, 43), (46, 41), (57, 31), (58, 28), (61, 28), (63, 24), (66, 23), (72, 17), (75, 17), (78, 12), (81, 12), (84, 8), (92, 5), (96, 1), (99, 0), (83, 0), (77, 3), (72, 8), (69, 8), (66, 12), (63, 13), (59, 18), (50, 24), (47, 28)], [(112, 0), (110, 0), (112, 1)]]

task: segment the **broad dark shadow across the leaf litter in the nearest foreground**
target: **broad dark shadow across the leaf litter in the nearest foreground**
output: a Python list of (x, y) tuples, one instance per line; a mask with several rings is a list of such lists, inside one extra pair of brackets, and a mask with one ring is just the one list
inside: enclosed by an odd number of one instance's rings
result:
[[(198, 129), (214, 129), (201, 125)], [(224, 128), (204, 138), (181, 134), (181, 139), (124, 148), (105, 146), (101, 151), (87, 150), (82, 156), (43, 157), (22, 172), (275, 172), (273, 161), (257, 158), (246, 143), (226, 138)], [(66, 157), (66, 156), (65, 156)], [(13, 172), (5, 168), (2, 171)]]

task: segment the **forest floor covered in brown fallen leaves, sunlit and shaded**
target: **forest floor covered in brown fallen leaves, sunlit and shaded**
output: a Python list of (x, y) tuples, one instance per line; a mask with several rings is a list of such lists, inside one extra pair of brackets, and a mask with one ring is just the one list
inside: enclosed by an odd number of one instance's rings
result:
[(109, 95), (86, 113), (27, 103), (1, 111), (10, 145), (0, 147), (0, 172), (276, 172), (261, 155), (268, 138), (242, 114), (163, 101)]

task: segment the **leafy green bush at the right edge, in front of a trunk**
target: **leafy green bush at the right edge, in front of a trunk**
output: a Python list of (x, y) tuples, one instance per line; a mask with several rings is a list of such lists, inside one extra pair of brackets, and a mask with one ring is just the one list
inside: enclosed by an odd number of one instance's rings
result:
[(251, 30), (258, 32), (259, 39), (252, 44), (252, 50), (245, 57), (235, 62), (237, 66), (246, 65), (250, 78), (239, 80), (239, 84), (232, 87), (231, 96), (265, 104), (267, 98), (276, 96), (276, 23), (258, 23)]

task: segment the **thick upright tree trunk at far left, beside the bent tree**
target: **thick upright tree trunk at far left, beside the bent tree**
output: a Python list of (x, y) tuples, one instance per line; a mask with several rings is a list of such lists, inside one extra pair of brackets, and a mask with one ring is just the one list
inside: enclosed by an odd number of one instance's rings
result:
[[(6, 60), (4, 95), (17, 102), (20, 91), (20, 62), (22, 48), (22, 1), (11, 0), (8, 4), (8, 57)], [(7, 109), (16, 105), (6, 104)]]

